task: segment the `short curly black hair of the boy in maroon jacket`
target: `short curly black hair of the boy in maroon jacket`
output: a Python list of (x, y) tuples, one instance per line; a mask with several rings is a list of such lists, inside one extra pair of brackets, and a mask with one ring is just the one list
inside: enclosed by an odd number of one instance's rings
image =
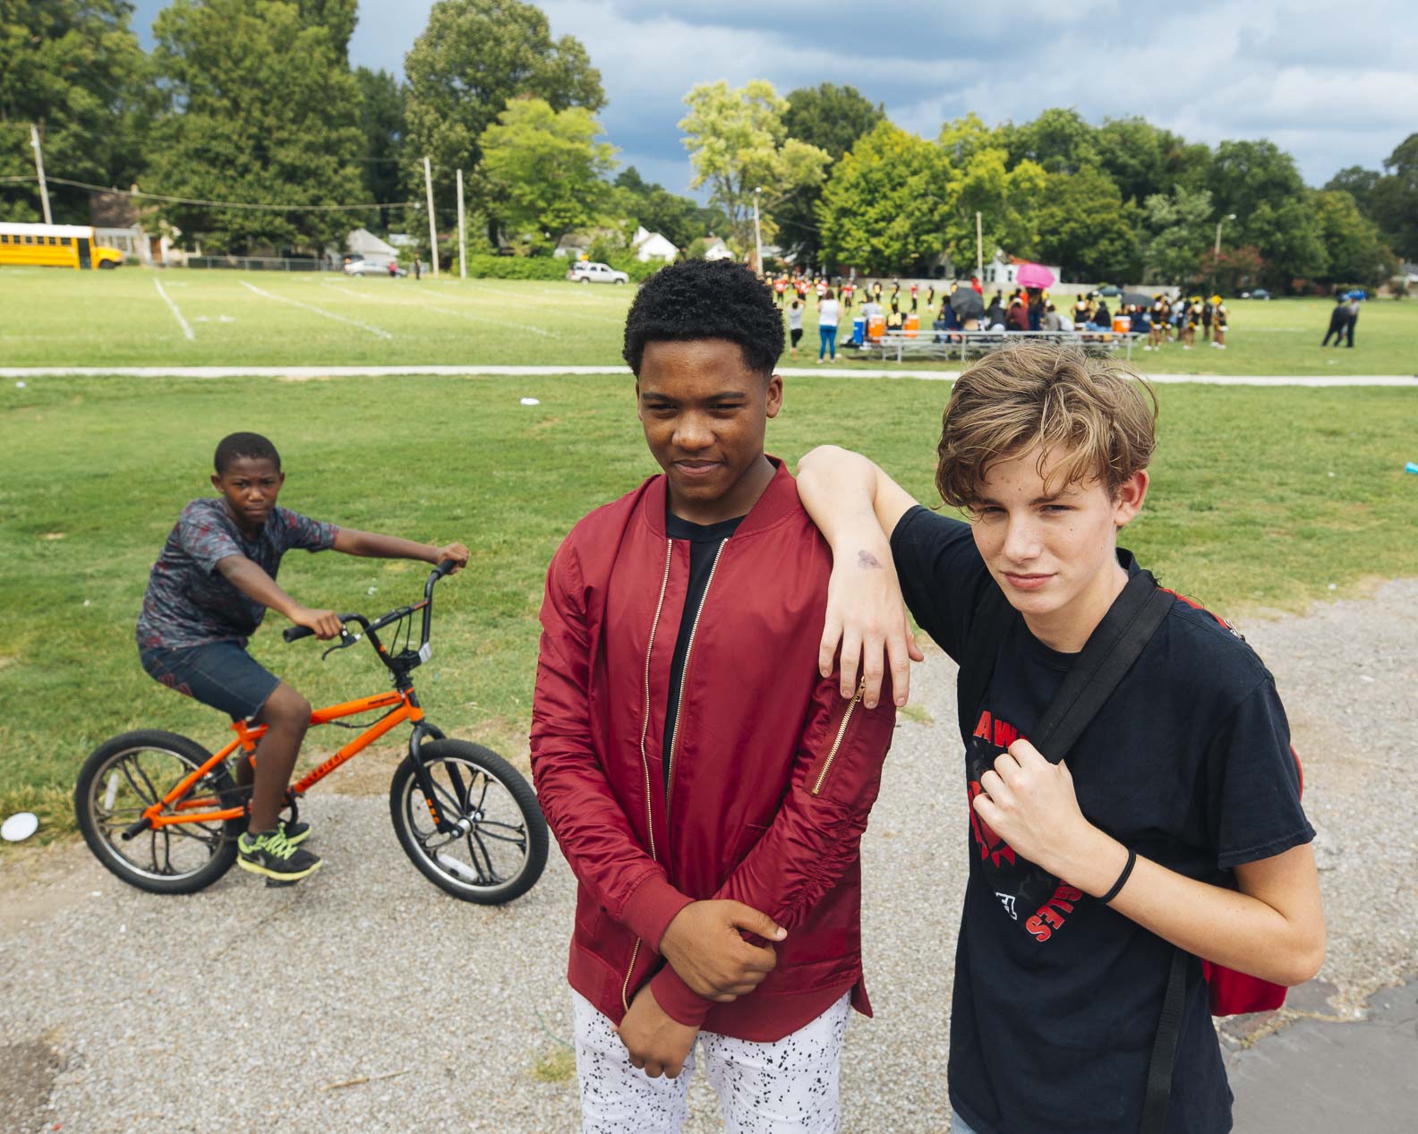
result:
[(730, 259), (682, 259), (647, 279), (625, 316), (621, 356), (640, 377), (645, 343), (727, 339), (764, 380), (783, 354), (783, 313), (773, 292)]

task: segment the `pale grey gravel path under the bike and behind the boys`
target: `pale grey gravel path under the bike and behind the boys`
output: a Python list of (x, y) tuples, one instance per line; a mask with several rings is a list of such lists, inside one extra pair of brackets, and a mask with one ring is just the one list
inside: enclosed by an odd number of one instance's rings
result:
[[(1353, 1018), (1418, 972), (1418, 580), (1242, 627), (1292, 714), (1330, 924), (1296, 1001)], [(875, 1021), (847, 1033), (847, 1130), (944, 1131), (943, 1069), (964, 828), (954, 666), (917, 669), (865, 843)], [(381, 798), (308, 807), (326, 868), (268, 890), (119, 883), (82, 845), (0, 862), (0, 1130), (573, 1131), (564, 984), (573, 882), (552, 855), (508, 909), (445, 897)], [(1288, 1016), (1227, 1026), (1232, 1045)], [(1263, 1042), (1263, 1040), (1262, 1040)], [(360, 1077), (367, 1082), (350, 1083)], [(384, 1076), (384, 1077), (381, 1077)], [(343, 1084), (343, 1086), (342, 1086)], [(1334, 1084), (1341, 1091), (1340, 1083)], [(702, 1079), (691, 1131), (716, 1130)]]

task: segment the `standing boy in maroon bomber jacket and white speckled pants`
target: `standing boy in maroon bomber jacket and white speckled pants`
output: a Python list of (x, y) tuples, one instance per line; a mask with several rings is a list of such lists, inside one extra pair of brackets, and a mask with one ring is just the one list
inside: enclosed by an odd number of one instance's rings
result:
[(837, 1130), (848, 1006), (871, 1015), (858, 856), (895, 706), (820, 670), (831, 556), (763, 451), (781, 353), (743, 266), (652, 276), (624, 354), (665, 472), (547, 571), (532, 771), (579, 882), (587, 1131), (678, 1130), (696, 1038), (732, 1128)]

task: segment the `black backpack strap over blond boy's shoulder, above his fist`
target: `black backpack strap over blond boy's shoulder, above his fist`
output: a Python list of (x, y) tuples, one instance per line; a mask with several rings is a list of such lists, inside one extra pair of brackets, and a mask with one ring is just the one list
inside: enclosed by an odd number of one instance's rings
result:
[(1045, 760), (1058, 764), (1068, 756), (1151, 641), (1171, 604), (1173, 597), (1157, 588), (1149, 571), (1137, 571), (1127, 580), (1029, 737)]

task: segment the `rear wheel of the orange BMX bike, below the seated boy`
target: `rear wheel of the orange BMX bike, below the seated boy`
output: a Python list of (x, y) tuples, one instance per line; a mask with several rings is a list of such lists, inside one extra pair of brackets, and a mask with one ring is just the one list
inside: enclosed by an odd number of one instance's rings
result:
[[(74, 785), (74, 815), (94, 856), (129, 886), (155, 894), (190, 894), (227, 873), (237, 860), (240, 819), (173, 824), (122, 838), (146, 808), (210, 758), (197, 741), (156, 730), (123, 733), (99, 744)], [(221, 797), (235, 805), (237, 792), (225, 765), (218, 764), (189, 795)]]

